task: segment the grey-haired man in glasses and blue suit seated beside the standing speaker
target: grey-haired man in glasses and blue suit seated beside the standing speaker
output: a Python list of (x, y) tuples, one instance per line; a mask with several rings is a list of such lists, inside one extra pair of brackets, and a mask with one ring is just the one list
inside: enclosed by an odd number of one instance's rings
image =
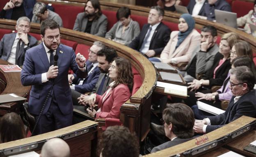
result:
[(75, 74), (70, 74), (68, 76), (69, 83), (71, 83), (70, 88), (73, 105), (79, 105), (77, 98), (80, 97), (81, 94), (92, 92), (98, 82), (98, 77), (101, 72), (98, 68), (97, 53), (104, 47), (105, 45), (103, 45), (102, 42), (96, 41), (88, 50), (89, 58), (86, 61), (88, 75), (85, 79), (81, 79)]

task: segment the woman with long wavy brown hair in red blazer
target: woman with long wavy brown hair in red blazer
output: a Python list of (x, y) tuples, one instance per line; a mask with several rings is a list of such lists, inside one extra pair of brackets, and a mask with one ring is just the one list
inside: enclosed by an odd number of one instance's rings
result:
[(91, 94), (89, 100), (82, 100), (94, 107), (98, 104), (98, 111), (87, 111), (91, 117), (119, 118), (120, 107), (126, 102), (133, 89), (133, 71), (130, 62), (124, 58), (115, 59), (109, 70), (109, 77), (114, 81), (103, 95)]

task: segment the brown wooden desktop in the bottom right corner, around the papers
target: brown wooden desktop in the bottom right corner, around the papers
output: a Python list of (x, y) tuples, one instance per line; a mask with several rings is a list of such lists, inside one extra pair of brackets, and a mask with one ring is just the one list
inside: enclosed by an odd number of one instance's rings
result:
[(247, 146), (248, 144), (250, 144), (251, 142), (253, 142), (255, 140), (256, 140), (256, 130), (252, 130), (251, 132), (249, 132), (245, 135), (242, 135), (238, 139), (227, 144), (226, 148), (228, 148), (234, 152), (238, 152), (247, 157), (255, 157), (256, 156), (255, 154), (244, 150), (245, 146)]

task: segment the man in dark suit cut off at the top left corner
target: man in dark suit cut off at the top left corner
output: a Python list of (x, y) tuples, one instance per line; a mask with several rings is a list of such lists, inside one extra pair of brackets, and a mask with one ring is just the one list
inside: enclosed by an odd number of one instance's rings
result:
[(35, 3), (36, 0), (10, 0), (0, 12), (0, 18), (18, 20), (22, 16), (27, 16), (31, 20)]

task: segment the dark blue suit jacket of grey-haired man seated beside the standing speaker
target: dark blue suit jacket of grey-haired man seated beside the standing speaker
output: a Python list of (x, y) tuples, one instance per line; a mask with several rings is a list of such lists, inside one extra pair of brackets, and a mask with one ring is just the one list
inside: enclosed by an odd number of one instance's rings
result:
[[(89, 68), (89, 65), (91, 65), (90, 61), (86, 61), (87, 68)], [(88, 71), (88, 69), (87, 69)], [(88, 75), (85, 78), (82, 85), (75, 85), (75, 91), (78, 91), (80, 93), (86, 93), (86, 92), (92, 92), (94, 87), (96, 86), (96, 83), (98, 82), (98, 78), (100, 76), (100, 69), (98, 69), (98, 66), (96, 66), (91, 73), (88, 71)], [(82, 80), (77, 75), (73, 74), (75, 79), (73, 82), (75, 84), (79, 84), (79, 82)]]

